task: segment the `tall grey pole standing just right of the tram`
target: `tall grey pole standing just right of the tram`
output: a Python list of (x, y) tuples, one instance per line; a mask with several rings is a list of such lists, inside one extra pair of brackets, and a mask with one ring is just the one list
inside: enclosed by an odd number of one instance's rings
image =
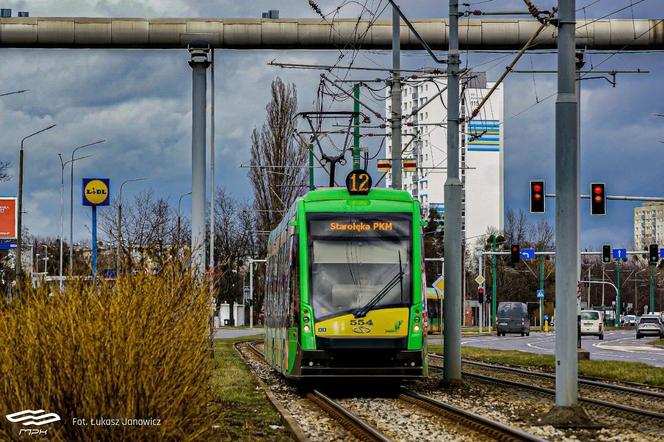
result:
[(450, 0), (445, 181), (445, 382), (461, 381), (461, 192), (459, 179), (459, 3)]

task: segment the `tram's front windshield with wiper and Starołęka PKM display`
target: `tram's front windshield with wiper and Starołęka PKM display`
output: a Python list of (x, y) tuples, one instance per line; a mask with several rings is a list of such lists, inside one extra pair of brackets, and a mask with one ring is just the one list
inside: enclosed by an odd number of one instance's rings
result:
[(404, 213), (310, 214), (316, 319), (410, 304), (411, 222)]

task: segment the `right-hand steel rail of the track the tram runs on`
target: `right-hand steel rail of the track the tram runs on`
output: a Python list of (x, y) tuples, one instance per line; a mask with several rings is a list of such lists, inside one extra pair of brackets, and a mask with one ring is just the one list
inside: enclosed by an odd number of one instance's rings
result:
[(399, 395), (399, 399), (415, 404), (418, 407), (422, 407), (443, 417), (453, 419), (460, 422), (465, 428), (471, 428), (496, 440), (533, 442), (542, 442), (545, 440), (519, 428), (510, 427), (509, 425), (487, 419), (484, 416), (423, 396), (413, 391), (404, 390)]

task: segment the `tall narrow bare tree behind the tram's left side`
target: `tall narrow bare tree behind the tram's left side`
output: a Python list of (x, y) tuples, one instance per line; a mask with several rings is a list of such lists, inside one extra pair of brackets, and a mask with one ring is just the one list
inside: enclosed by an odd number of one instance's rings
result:
[[(274, 229), (306, 184), (306, 150), (295, 141), (297, 91), (280, 78), (272, 82), (266, 122), (251, 135), (251, 170), (258, 230)], [(265, 241), (260, 244), (265, 250)]]

